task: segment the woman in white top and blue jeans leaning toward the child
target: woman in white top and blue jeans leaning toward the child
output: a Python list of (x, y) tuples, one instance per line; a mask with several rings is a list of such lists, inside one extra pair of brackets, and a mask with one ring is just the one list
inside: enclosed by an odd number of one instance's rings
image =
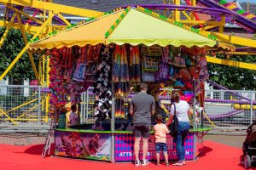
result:
[[(171, 109), (171, 116), (166, 123), (166, 125), (170, 125), (172, 123), (172, 119), (174, 116), (174, 107), (176, 107), (176, 116), (178, 120), (178, 132), (177, 135), (174, 137), (176, 142), (176, 152), (178, 157), (178, 162), (173, 164), (176, 166), (183, 166), (186, 164), (185, 162), (185, 139), (189, 134), (189, 115), (192, 114), (189, 104), (186, 101), (180, 100), (179, 94), (177, 91), (172, 91), (172, 100), (173, 105)], [(175, 106), (174, 106), (175, 105)]]

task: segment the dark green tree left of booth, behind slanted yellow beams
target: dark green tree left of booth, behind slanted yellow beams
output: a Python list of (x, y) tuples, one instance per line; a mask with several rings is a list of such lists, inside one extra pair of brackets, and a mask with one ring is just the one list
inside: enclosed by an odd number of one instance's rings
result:
[[(5, 31), (4, 27), (0, 27), (0, 37), (3, 36)], [(32, 36), (26, 34), (26, 37), (31, 38)], [(8, 65), (15, 59), (20, 53), (21, 49), (25, 47), (20, 30), (11, 29), (9, 30), (8, 36), (3, 42), (3, 46), (0, 49), (0, 74), (6, 70)], [(35, 63), (38, 63), (38, 59), (34, 58)], [(35, 79), (34, 72), (32, 71), (32, 64), (25, 53), (21, 56), (18, 62), (8, 73), (9, 77), (13, 77), (15, 81), (21, 81), (23, 79)]]

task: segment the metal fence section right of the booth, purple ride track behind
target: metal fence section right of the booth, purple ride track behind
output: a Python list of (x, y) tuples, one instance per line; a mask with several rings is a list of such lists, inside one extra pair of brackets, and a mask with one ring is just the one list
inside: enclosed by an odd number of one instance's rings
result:
[(204, 122), (214, 128), (246, 129), (256, 119), (256, 92), (206, 90)]

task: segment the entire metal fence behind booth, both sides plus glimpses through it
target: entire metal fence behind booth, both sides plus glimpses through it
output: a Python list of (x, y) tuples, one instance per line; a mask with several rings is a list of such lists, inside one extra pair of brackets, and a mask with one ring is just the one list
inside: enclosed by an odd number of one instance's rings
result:
[[(45, 87), (38, 86), (0, 86), (0, 131), (32, 132), (44, 131), (49, 126), (49, 97)], [(95, 94), (88, 88), (81, 94), (81, 122), (94, 122)], [(169, 98), (168, 98), (169, 99)], [(169, 110), (168, 99), (161, 104)], [(125, 105), (125, 109), (127, 105)], [(246, 129), (256, 119), (256, 92), (234, 90), (206, 90), (205, 126), (215, 129)]]

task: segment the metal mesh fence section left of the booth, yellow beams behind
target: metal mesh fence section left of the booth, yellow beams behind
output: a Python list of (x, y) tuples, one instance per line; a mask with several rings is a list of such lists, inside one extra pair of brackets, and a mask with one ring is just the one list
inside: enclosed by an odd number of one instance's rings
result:
[[(16, 131), (36, 128), (44, 130), (49, 122), (49, 97), (45, 87), (0, 86), (0, 128), (1, 131)], [(34, 127), (34, 128), (33, 128)], [(32, 128), (32, 129), (31, 129)]]

